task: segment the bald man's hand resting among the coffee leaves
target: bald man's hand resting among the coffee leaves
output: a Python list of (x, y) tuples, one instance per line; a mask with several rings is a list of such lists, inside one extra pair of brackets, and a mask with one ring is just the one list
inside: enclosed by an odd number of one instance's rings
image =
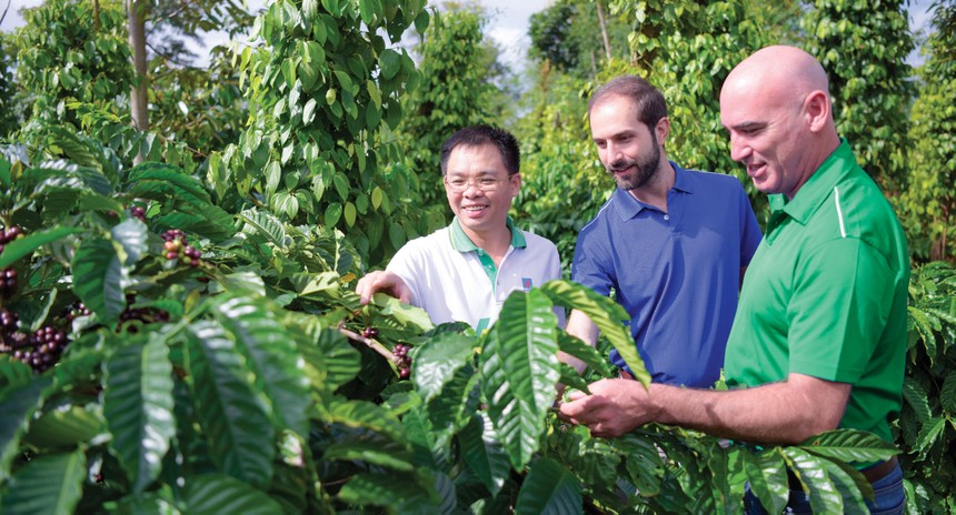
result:
[(600, 380), (588, 385), (591, 394), (572, 392), (559, 416), (587, 426), (591, 435), (613, 438), (654, 422), (657, 408), (649, 392), (637, 381)]

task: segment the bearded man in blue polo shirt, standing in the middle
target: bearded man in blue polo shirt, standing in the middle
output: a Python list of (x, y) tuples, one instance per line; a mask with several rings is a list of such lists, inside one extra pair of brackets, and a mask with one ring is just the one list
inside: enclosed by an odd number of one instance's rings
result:
[[(581, 229), (571, 277), (603, 295), (615, 292), (655, 382), (709, 387), (724, 364), (744, 270), (760, 243), (744, 186), (733, 175), (667, 160), (667, 104), (639, 77), (599, 88), (588, 117), (618, 188)], [(568, 333), (591, 345), (598, 336), (579, 311), (571, 312)], [(617, 351), (611, 361), (630, 372)]]

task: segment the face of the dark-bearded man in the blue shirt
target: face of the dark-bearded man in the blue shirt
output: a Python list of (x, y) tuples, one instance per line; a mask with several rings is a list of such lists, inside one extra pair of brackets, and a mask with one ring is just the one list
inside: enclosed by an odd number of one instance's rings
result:
[(590, 110), (591, 138), (601, 164), (623, 190), (635, 190), (653, 181), (661, 166), (660, 144), (669, 129), (666, 118), (651, 132), (640, 121), (635, 102), (610, 97)]

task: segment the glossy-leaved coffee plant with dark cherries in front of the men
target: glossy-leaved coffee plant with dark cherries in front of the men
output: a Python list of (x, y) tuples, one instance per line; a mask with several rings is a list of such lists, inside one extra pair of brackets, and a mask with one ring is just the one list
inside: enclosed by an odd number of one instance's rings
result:
[(868, 484), (845, 462), (895, 453), (847, 431), (763, 450), (661, 426), (592, 438), (552, 411), (557, 383), (587, 388), (557, 351), (613, 371), (554, 307), (588, 313), (647, 382), (609, 299), (556, 281), (481, 335), (434, 327), (359, 304), (340, 232), (230, 213), (168, 164), (24, 154), (0, 160), (0, 221), (26, 234), (0, 253), (20, 282), (4, 345), (69, 343), (37, 370), (0, 355), (4, 514), (733, 512), (748, 481), (780, 506), (786, 467), (820, 511), (859, 512)]

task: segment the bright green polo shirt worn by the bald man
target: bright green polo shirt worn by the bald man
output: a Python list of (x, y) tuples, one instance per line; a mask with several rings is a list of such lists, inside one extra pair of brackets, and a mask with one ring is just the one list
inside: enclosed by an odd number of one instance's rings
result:
[(850, 383), (840, 427), (893, 442), (909, 282), (896, 214), (845, 140), (793, 200), (770, 195), (770, 209), (727, 342), (728, 385), (789, 373)]

